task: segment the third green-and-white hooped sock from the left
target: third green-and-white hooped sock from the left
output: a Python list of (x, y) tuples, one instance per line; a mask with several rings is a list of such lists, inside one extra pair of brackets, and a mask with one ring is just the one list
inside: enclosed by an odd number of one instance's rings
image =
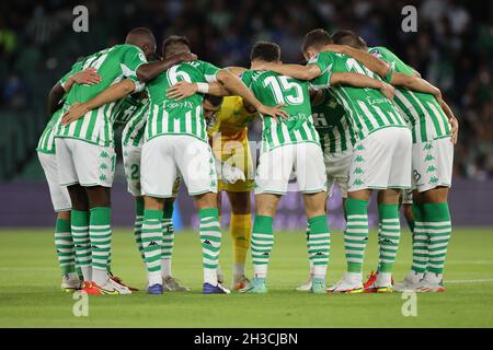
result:
[(112, 209), (96, 207), (91, 209), (89, 236), (92, 248), (92, 280), (99, 285), (106, 283), (106, 272), (112, 244)]

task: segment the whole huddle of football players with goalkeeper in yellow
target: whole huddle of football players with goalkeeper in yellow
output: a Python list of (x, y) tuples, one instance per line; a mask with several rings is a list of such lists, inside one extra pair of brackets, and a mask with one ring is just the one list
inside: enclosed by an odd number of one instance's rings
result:
[[(302, 55), (306, 63), (283, 65), (278, 45), (259, 42), (250, 69), (220, 69), (197, 59), (183, 36), (168, 37), (158, 55), (152, 33), (138, 27), (125, 44), (76, 62), (49, 93), (51, 118), (37, 148), (57, 212), (62, 289), (95, 295), (136, 290), (111, 270), (110, 194), (115, 132), (121, 130), (149, 294), (188, 290), (171, 270), (173, 202), (181, 184), (198, 210), (203, 292), (230, 293), (219, 267), (222, 190), (232, 209), (231, 288), (267, 292), (273, 220), (293, 173), (305, 202), (310, 262), (310, 278), (297, 290), (444, 291), (451, 233), (447, 195), (458, 135), (454, 113), (419, 72), (385, 47), (368, 48), (353, 32), (311, 31)], [(256, 170), (248, 139), (255, 118), (263, 126)], [(335, 184), (347, 222), (347, 270), (328, 289), (326, 201)], [(374, 191), (379, 264), (365, 282)], [(413, 261), (403, 281), (394, 284), (401, 203), (413, 232)], [(250, 247), (252, 280), (245, 277)]]

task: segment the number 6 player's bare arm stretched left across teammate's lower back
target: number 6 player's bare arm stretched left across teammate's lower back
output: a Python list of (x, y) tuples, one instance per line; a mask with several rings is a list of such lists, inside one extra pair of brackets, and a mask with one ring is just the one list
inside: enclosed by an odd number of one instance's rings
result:
[(126, 97), (127, 95), (131, 94), (135, 90), (136, 90), (135, 82), (130, 79), (126, 79), (116, 84), (113, 84), (94, 98), (84, 103), (73, 104), (70, 107), (70, 109), (61, 117), (61, 124), (68, 125), (81, 118), (83, 115), (85, 115), (88, 112), (94, 108), (98, 108), (113, 101)]

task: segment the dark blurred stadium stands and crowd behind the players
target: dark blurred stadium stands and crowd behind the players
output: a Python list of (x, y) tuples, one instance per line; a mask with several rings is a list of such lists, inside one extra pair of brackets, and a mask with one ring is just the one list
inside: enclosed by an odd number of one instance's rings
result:
[[(89, 33), (74, 33), (72, 9), (89, 8)], [(417, 8), (417, 33), (401, 31), (401, 9)], [(283, 60), (300, 60), (309, 30), (351, 28), (369, 45), (390, 47), (437, 84), (460, 121), (451, 209), (455, 224), (493, 226), (493, 5), (459, 0), (16, 0), (0, 3), (0, 228), (50, 226), (47, 186), (35, 152), (47, 121), (46, 96), (80, 56), (123, 42), (128, 30), (148, 26), (158, 43), (186, 35), (194, 52), (220, 67), (248, 66), (250, 47), (270, 39)], [(251, 128), (259, 138), (259, 125)], [(123, 166), (113, 191), (116, 225), (133, 224)], [(176, 225), (194, 225), (192, 202), (181, 196)], [(331, 201), (341, 228), (341, 201)], [(181, 212), (181, 214), (180, 214)], [(226, 217), (226, 215), (225, 215)], [(283, 200), (280, 229), (305, 226), (297, 194)]]

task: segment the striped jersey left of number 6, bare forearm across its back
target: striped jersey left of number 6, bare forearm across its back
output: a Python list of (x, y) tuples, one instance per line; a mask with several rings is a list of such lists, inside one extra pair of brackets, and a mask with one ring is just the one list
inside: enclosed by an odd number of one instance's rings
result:
[[(144, 85), (139, 83), (136, 71), (144, 63), (147, 63), (147, 60), (142, 50), (134, 45), (116, 45), (87, 57), (82, 62), (82, 69), (95, 68), (103, 81), (95, 85), (74, 85), (68, 93), (64, 110), (68, 110), (73, 103), (90, 101), (124, 79), (135, 81), (137, 92), (141, 91)], [(78, 139), (105, 147), (113, 145), (113, 124), (121, 104), (122, 101), (105, 104), (68, 126), (59, 125), (56, 137)]]

